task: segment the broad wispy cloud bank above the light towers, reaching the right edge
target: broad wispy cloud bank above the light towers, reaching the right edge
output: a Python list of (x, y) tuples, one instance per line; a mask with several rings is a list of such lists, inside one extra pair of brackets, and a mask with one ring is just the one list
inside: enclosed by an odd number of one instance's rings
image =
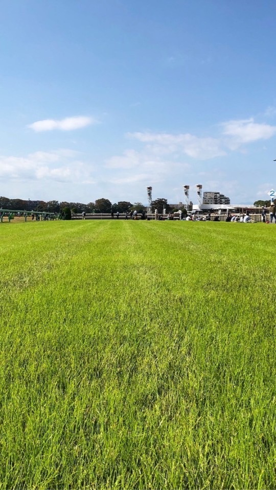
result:
[(237, 150), (239, 153), (247, 152), (251, 143), (264, 141), (275, 135), (276, 126), (256, 122), (254, 118), (220, 123), (216, 127), (215, 136), (202, 137), (191, 133), (153, 131), (128, 132), (125, 136), (129, 142), (133, 142), (133, 146), (121, 155), (106, 159), (105, 167), (110, 171), (116, 171), (116, 176), (111, 178), (113, 184), (128, 184), (129, 189), (134, 189), (142, 182), (175, 185), (176, 176), (181, 176), (183, 181), (196, 181), (196, 176), (200, 175), (202, 183), (210, 190), (224, 192), (234, 200), (240, 196), (240, 199), (249, 202), (248, 196), (243, 192), (243, 186), (240, 186), (237, 180), (231, 180), (227, 171), (221, 173), (221, 167), (212, 166), (211, 169), (208, 164), (206, 172), (202, 162), (223, 157)]

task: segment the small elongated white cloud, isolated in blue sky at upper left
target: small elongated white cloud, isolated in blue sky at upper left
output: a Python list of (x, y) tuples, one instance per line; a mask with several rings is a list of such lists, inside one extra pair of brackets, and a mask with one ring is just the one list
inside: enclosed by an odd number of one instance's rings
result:
[(29, 124), (28, 128), (31, 128), (36, 132), (52, 131), (54, 129), (72, 131), (73, 129), (84, 128), (85, 126), (96, 123), (97, 121), (94, 118), (79, 115), (72, 118), (61, 119), (59, 121), (55, 119), (43, 119), (42, 121), (36, 121), (35, 123)]

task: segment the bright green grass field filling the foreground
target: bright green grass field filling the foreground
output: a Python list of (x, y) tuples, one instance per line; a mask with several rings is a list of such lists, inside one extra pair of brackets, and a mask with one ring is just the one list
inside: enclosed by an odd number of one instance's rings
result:
[(0, 488), (275, 488), (275, 234), (0, 224)]

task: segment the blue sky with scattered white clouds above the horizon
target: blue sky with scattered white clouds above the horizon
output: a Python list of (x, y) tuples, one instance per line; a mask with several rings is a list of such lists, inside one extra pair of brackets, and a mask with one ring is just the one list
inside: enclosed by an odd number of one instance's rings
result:
[(2, 0), (0, 194), (276, 186), (274, 0)]

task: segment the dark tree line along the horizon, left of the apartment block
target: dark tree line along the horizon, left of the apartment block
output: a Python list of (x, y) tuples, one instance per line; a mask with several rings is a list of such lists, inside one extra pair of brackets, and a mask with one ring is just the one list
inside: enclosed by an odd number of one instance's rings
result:
[[(126, 211), (134, 211), (142, 213), (147, 209), (142, 202), (131, 203), (129, 201), (118, 201), (111, 203), (109, 199), (101, 198), (96, 199), (95, 202), (88, 202), (84, 204), (82, 202), (67, 202), (67, 201), (30, 201), (24, 199), (9, 199), (8, 197), (0, 197), (0, 208), (2, 209), (18, 209), (18, 211), (41, 211), (48, 213), (61, 213), (64, 209), (70, 209), (73, 213), (125, 213)], [(157, 208), (158, 213), (163, 213), (165, 208), (167, 212), (177, 211), (168, 204), (168, 200), (165, 198), (158, 198), (152, 201), (153, 211)], [(185, 212), (184, 206), (180, 209)]]

